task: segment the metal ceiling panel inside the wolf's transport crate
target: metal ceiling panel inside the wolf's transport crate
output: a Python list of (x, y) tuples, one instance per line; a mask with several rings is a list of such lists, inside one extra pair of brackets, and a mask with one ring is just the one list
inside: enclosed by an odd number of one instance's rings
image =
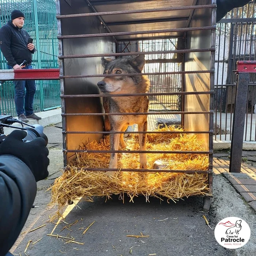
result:
[[(196, 0), (90, 0), (95, 11), (141, 10), (162, 7), (195, 5)], [(101, 18), (111, 32), (148, 31), (187, 27), (193, 10), (146, 12), (135, 14), (103, 15)], [(182, 37), (184, 32), (162, 32), (136, 35), (116, 35), (117, 40), (140, 38)]]

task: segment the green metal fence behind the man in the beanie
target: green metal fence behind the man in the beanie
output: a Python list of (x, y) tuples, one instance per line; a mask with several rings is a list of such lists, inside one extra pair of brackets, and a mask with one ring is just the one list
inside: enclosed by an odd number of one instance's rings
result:
[[(34, 38), (36, 52), (33, 68), (58, 68), (58, 40), (56, 3), (54, 0), (0, 0), (1, 26), (10, 20), (12, 10), (25, 14), (24, 29)], [(7, 61), (0, 53), (0, 69), (7, 69)], [(36, 81), (34, 112), (60, 107), (59, 80)], [(0, 87), (0, 114), (16, 116), (14, 84), (4, 82)]]

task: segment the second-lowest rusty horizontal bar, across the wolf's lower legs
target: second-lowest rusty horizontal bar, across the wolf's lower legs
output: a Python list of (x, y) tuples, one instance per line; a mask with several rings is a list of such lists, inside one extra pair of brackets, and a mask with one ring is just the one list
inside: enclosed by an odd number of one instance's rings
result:
[(213, 154), (213, 150), (209, 151), (156, 151), (156, 150), (79, 150), (79, 149), (63, 149), (63, 152), (70, 153), (146, 153), (146, 154)]

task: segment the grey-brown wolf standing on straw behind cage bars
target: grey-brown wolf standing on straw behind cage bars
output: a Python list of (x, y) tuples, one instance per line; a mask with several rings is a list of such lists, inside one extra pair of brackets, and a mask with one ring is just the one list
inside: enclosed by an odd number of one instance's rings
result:
[[(125, 132), (129, 125), (138, 124), (138, 131), (147, 131), (147, 114), (125, 115), (129, 112), (148, 112), (147, 96), (125, 96), (114, 97), (115, 94), (147, 93), (150, 81), (146, 75), (129, 76), (129, 74), (142, 73), (145, 65), (145, 55), (136, 57), (118, 58), (115, 60), (101, 58), (104, 74), (127, 74), (127, 76), (109, 76), (97, 83), (102, 94), (111, 94), (112, 97), (103, 97), (105, 113), (120, 113), (120, 115), (105, 116), (105, 131)], [(139, 150), (146, 150), (147, 134), (139, 134)], [(124, 134), (110, 133), (110, 150), (118, 150), (119, 142), (121, 148), (126, 148)], [(146, 153), (140, 153), (140, 168), (147, 169)], [(109, 168), (117, 168), (117, 153), (111, 153)], [(114, 172), (109, 172), (114, 174)]]

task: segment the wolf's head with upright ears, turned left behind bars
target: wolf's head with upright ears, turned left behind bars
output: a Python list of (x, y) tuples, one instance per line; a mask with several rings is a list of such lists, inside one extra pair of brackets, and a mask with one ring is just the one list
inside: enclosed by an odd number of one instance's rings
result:
[(104, 74), (127, 74), (127, 76), (109, 76), (98, 82), (98, 87), (105, 94), (146, 93), (148, 85), (142, 76), (128, 76), (141, 73), (145, 65), (145, 55), (134, 58), (118, 58), (116, 60), (102, 57)]

